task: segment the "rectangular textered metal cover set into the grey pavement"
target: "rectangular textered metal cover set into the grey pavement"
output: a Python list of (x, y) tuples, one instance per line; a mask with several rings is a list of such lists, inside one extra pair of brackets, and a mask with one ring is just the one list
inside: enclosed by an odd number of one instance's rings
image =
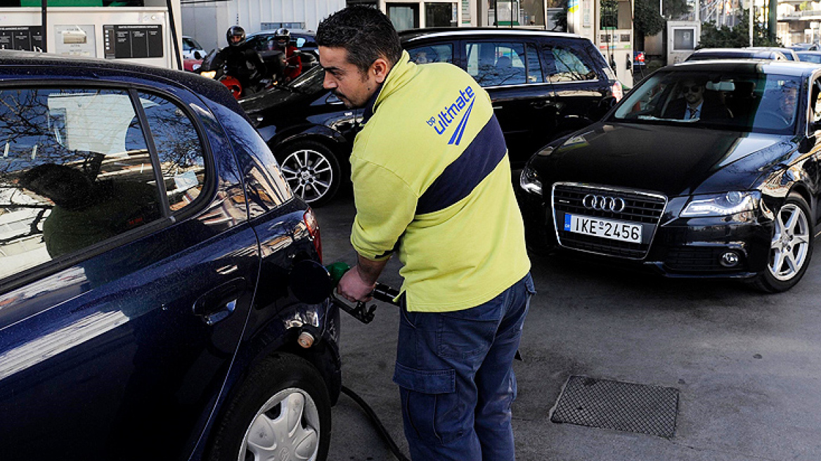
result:
[(570, 377), (550, 421), (669, 439), (677, 413), (678, 390), (672, 387)]

